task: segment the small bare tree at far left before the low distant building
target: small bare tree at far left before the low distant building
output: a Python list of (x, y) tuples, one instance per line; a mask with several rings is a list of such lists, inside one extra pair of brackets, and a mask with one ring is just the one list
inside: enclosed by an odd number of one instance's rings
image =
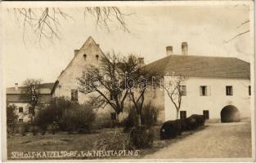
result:
[(34, 122), (35, 117), (35, 108), (38, 106), (38, 98), (40, 94), (40, 86), (41, 86), (42, 79), (26, 79), (24, 81), (25, 85), (25, 99), (29, 101), (31, 105), (29, 114), (31, 117), (31, 122)]

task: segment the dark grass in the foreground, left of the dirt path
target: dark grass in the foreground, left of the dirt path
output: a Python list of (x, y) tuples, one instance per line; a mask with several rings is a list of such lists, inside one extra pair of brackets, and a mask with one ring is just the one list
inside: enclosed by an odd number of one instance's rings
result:
[[(150, 153), (158, 151), (160, 148), (164, 148), (171, 143), (176, 143), (186, 136), (193, 134), (192, 132), (183, 132), (177, 139), (160, 140), (159, 138), (160, 126), (154, 127), (155, 140), (152, 148), (141, 149), (139, 156), (114, 156), (114, 158), (141, 158)], [(201, 129), (199, 129), (201, 130)], [(65, 132), (59, 132), (57, 134), (45, 134), (34, 136), (29, 133), (25, 136), (20, 134), (13, 134), (7, 138), (7, 157), (11, 158), (11, 152), (43, 152), (43, 151), (92, 151), (95, 149), (93, 145), (97, 140), (103, 138), (111, 138), (115, 133), (119, 133), (121, 137), (127, 137), (128, 134), (123, 132), (122, 128), (115, 129), (102, 129), (95, 130), (92, 134), (68, 134)], [(61, 157), (60, 159), (86, 159), (87, 157), (68, 156)], [(97, 157), (90, 157), (93, 159)], [(113, 156), (107, 157), (113, 158)], [(31, 159), (31, 158), (30, 158)], [(51, 159), (51, 158), (43, 158)], [(56, 159), (56, 158), (55, 158)]]

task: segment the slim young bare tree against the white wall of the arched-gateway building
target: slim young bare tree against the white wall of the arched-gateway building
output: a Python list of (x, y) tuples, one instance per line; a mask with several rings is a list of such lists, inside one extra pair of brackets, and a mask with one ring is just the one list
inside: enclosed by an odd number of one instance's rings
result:
[(176, 118), (178, 119), (178, 113), (182, 106), (182, 96), (186, 95), (186, 88), (182, 83), (186, 80), (187, 77), (172, 77), (168, 80), (166, 85), (163, 84), (164, 90), (167, 92), (169, 99), (171, 99), (172, 104), (176, 108)]

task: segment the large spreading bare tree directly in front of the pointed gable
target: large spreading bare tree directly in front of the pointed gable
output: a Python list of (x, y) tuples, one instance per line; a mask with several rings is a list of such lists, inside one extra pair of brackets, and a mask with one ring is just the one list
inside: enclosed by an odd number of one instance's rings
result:
[(121, 59), (113, 52), (112, 55), (107, 54), (101, 58), (101, 66), (90, 65), (83, 72), (83, 77), (79, 78), (79, 91), (88, 95), (92, 95), (92, 104), (97, 107), (109, 104), (117, 115), (123, 112), (124, 100), (128, 95), (125, 89), (125, 74), (120, 69)]

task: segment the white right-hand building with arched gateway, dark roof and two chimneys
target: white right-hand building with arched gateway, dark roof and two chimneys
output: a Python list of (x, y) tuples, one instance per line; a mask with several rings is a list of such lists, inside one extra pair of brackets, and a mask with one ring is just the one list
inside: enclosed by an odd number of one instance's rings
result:
[[(240, 117), (250, 117), (250, 64), (234, 57), (188, 55), (186, 42), (182, 55), (173, 55), (173, 48), (166, 48), (167, 56), (151, 64), (164, 81), (173, 77), (186, 77), (182, 82), (184, 95), (179, 117), (204, 114), (206, 118), (221, 118), (222, 108), (236, 107)], [(161, 108), (164, 121), (176, 119), (174, 107), (164, 88), (149, 91), (150, 101)]]

